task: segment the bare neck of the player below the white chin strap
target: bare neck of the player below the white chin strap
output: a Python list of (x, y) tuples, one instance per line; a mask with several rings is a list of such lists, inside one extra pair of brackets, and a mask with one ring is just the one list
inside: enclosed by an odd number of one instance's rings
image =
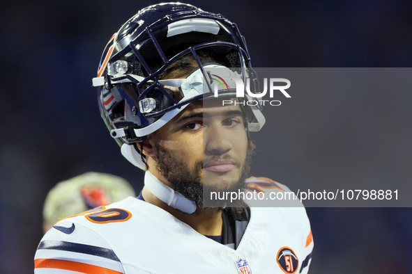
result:
[(157, 198), (153, 193), (143, 188), (142, 196), (148, 203), (154, 204), (169, 212), (174, 217), (186, 223), (194, 230), (203, 235), (218, 236), (222, 234), (222, 210), (221, 209), (197, 209), (192, 214), (184, 213), (178, 209), (170, 207), (165, 202)]

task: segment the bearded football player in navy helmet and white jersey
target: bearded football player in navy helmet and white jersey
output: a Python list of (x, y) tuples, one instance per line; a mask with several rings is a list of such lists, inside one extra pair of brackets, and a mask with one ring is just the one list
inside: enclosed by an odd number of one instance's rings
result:
[(289, 191), (264, 177), (245, 181), (249, 131), (265, 119), (259, 104), (244, 104), (250, 93), (236, 97), (238, 79), (257, 82), (245, 39), (222, 15), (162, 3), (123, 24), (93, 86), (121, 153), (146, 171), (144, 188), (59, 221), (40, 241), (35, 273), (307, 273), (303, 207), (211, 195)]

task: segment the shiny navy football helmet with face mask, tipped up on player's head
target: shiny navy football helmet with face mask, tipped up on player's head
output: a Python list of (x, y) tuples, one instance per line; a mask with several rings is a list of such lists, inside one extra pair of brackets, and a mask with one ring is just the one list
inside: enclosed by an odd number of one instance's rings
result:
[[(171, 64), (188, 55), (196, 61), (197, 70), (186, 79), (162, 78)], [(202, 63), (201, 55), (215, 62)], [(248, 81), (256, 90), (245, 39), (236, 24), (222, 15), (185, 3), (161, 3), (139, 10), (123, 24), (110, 38), (93, 78), (102, 118), (123, 156), (145, 169), (133, 144), (142, 142), (190, 102), (216, 92), (236, 97), (234, 81), (224, 81), (212, 70)], [(213, 81), (220, 83), (214, 90)], [(170, 86), (178, 88), (178, 99)], [(265, 122), (260, 104), (244, 109), (249, 130), (258, 131)]]

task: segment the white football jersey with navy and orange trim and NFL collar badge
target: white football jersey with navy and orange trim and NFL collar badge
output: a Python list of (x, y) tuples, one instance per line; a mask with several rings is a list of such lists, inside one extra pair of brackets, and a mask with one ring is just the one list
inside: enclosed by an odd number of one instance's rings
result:
[(312, 249), (304, 207), (251, 207), (234, 250), (129, 197), (59, 221), (38, 246), (34, 272), (307, 273)]

